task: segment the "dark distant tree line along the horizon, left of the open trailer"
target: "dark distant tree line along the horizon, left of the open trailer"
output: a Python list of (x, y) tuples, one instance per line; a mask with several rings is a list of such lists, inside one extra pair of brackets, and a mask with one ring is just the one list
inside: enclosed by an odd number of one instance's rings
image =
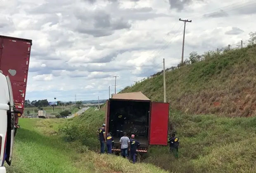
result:
[[(72, 101), (63, 103), (61, 101), (56, 101), (56, 106), (63, 106), (63, 105), (72, 105), (75, 104)], [(76, 105), (82, 105), (82, 101), (77, 101)], [(32, 107), (47, 107), (49, 106), (49, 102), (47, 101), (47, 99), (44, 100), (34, 100), (34, 101), (30, 101), (30, 100), (25, 100), (25, 108), (32, 108)]]

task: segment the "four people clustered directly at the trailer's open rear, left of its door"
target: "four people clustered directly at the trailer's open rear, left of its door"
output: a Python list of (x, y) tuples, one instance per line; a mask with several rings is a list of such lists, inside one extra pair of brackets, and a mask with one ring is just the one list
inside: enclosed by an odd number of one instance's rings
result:
[[(105, 143), (107, 144), (107, 153), (112, 153), (112, 147), (114, 146), (114, 138), (111, 136), (111, 133), (105, 132), (106, 124), (102, 124), (102, 127), (98, 129), (99, 140), (100, 140), (100, 154), (105, 153)], [(127, 136), (127, 133), (124, 132), (123, 136), (119, 140), (121, 147), (121, 156), (127, 159), (132, 159), (133, 164), (135, 163), (136, 158), (136, 149), (140, 146), (140, 142), (135, 140), (135, 135), (132, 134), (131, 138)], [(130, 157), (128, 156), (128, 152)]]

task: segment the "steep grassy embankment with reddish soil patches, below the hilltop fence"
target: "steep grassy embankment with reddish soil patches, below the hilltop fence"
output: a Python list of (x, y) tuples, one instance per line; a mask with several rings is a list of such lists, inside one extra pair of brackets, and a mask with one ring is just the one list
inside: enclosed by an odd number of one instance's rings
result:
[[(256, 115), (256, 45), (216, 52), (204, 61), (166, 72), (166, 95), (173, 110), (229, 117)], [(163, 75), (126, 87), (163, 101)]]

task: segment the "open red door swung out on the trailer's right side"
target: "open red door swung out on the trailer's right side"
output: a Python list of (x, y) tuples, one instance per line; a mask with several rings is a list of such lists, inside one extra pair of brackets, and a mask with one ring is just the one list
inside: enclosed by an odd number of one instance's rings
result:
[(149, 145), (167, 145), (169, 103), (152, 102), (150, 109)]

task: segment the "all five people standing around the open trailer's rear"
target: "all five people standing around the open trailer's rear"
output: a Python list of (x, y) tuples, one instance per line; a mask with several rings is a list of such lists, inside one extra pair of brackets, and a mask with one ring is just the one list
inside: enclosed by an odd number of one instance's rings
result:
[[(111, 133), (105, 132), (106, 124), (102, 124), (102, 127), (98, 129), (99, 139), (100, 139), (100, 154), (105, 153), (105, 143), (107, 144), (107, 153), (112, 153), (112, 147), (114, 146), (114, 138), (111, 136)], [(140, 142), (135, 140), (135, 135), (132, 134), (131, 138), (128, 138), (127, 133), (124, 132), (123, 136), (119, 140), (121, 147), (121, 156), (129, 159), (128, 152), (130, 151), (130, 159), (135, 163), (136, 158), (136, 149), (140, 146)], [(170, 152), (173, 153), (175, 158), (178, 158), (178, 147), (179, 139), (176, 137), (175, 133), (172, 133), (171, 137), (168, 139), (170, 143)]]

